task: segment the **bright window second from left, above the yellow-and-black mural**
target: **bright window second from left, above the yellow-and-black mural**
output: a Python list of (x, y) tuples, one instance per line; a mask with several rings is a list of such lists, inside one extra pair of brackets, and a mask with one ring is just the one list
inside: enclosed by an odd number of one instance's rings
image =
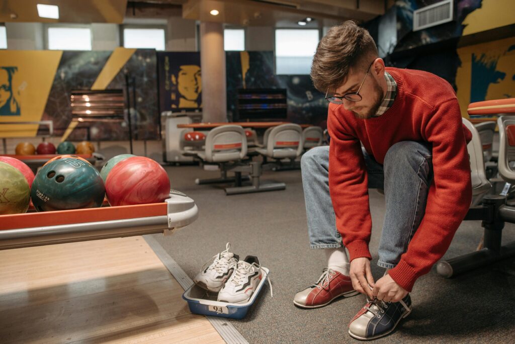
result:
[(85, 27), (49, 27), (48, 49), (91, 50), (91, 29)]

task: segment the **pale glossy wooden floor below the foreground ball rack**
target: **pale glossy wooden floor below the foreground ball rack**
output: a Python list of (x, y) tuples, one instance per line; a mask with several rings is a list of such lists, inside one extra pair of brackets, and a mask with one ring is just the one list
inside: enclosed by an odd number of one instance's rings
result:
[(0, 342), (224, 343), (141, 236), (0, 251)]

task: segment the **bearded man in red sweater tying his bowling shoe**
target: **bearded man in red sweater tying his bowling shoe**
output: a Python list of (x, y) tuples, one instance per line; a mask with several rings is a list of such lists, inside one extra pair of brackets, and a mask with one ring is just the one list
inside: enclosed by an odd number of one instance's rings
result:
[[(294, 303), (314, 308), (365, 294), (349, 334), (379, 338), (411, 312), (408, 293), (449, 248), (467, 213), (472, 135), (447, 81), (386, 68), (369, 33), (353, 22), (322, 38), (311, 77), (331, 102), (331, 143), (303, 156), (302, 179), (311, 247), (325, 249), (328, 267)], [(383, 189), (386, 201), (377, 262), (386, 271), (377, 281), (368, 188)]]

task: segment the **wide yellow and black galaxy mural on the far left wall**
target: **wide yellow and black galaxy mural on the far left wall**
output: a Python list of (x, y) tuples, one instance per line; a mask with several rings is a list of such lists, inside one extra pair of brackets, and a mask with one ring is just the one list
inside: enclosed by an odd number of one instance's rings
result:
[[(135, 107), (131, 101), (130, 110), (133, 138), (156, 140), (159, 114), (155, 91), (156, 51), (153, 49), (0, 51), (0, 122), (50, 120), (55, 136), (73, 129), (68, 140), (128, 140), (127, 113), (122, 123), (93, 122), (75, 127), (71, 125), (70, 106), (72, 91), (125, 89), (126, 74), (135, 85), (135, 97), (132, 91), (129, 94), (131, 99), (135, 98)], [(100, 83), (99, 79), (102, 79)], [(2, 137), (46, 133), (47, 127), (38, 125), (3, 125), (0, 130)]]

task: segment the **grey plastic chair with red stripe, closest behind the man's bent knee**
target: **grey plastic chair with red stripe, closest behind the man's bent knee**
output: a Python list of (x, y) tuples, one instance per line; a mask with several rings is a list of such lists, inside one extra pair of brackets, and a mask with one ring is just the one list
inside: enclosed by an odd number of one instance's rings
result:
[[(300, 168), (295, 164), (295, 159), (302, 153), (302, 128), (298, 124), (286, 123), (271, 128), (268, 133), (265, 131), (263, 148), (256, 149), (263, 157), (273, 159), (275, 162), (271, 169), (291, 169)], [(284, 166), (283, 159), (290, 161), (289, 165)]]

